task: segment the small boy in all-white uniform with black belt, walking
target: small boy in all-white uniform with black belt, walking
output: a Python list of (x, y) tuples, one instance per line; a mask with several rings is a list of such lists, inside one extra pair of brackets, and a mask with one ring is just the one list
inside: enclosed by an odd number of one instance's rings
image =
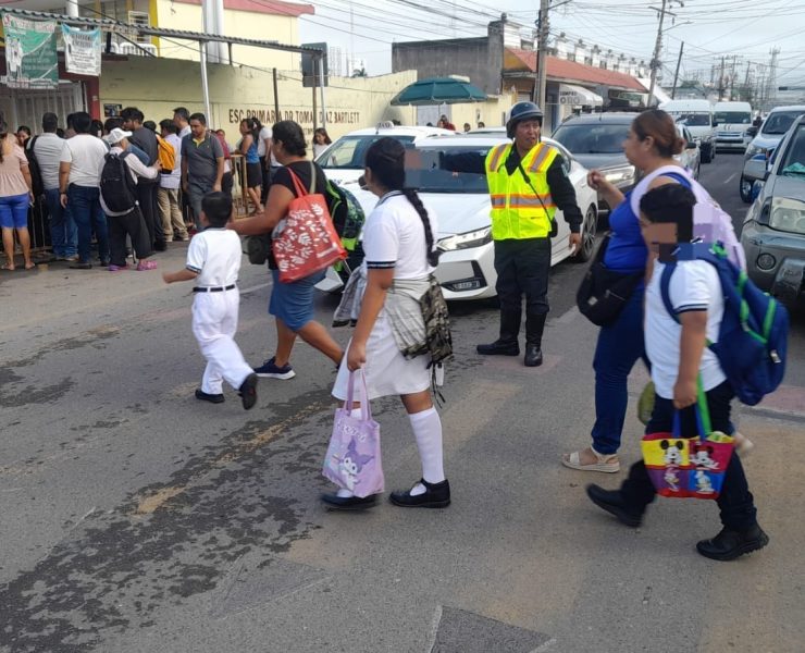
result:
[(196, 398), (211, 404), (224, 401), (223, 380), (238, 391), (244, 408), (257, 402), (257, 374), (247, 365), (235, 343), (240, 295), (240, 238), (226, 229), (232, 215), (232, 197), (208, 193), (201, 200), (203, 231), (190, 241), (184, 270), (165, 272), (165, 283), (196, 281), (193, 292), (193, 334), (207, 359)]

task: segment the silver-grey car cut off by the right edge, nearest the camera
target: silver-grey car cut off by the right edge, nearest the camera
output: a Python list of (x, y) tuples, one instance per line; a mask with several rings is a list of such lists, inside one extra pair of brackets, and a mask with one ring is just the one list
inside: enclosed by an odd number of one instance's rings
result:
[(795, 119), (770, 164), (756, 155), (745, 173), (765, 180), (741, 232), (748, 275), (772, 295), (797, 299), (805, 279), (805, 115)]

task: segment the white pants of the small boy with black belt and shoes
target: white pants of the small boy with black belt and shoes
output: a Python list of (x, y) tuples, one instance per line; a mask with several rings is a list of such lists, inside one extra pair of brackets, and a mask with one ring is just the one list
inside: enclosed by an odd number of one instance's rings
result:
[(220, 293), (196, 293), (193, 300), (193, 334), (207, 359), (201, 391), (221, 394), (223, 380), (235, 390), (253, 373), (237, 344), (237, 311), (240, 293), (237, 288)]

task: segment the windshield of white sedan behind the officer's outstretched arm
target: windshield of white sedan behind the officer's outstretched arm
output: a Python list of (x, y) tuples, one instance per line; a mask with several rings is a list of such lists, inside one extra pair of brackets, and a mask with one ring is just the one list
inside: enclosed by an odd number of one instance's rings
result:
[(420, 193), (487, 194), (484, 161), (491, 147), (407, 148), (406, 185)]

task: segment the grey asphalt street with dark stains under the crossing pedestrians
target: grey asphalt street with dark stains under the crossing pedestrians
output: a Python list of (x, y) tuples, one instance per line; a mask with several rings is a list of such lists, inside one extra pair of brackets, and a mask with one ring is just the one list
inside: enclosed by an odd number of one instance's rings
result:
[[(702, 181), (740, 221), (740, 156)], [(183, 266), (174, 244), (160, 267)], [(383, 504), (327, 513), (318, 495), (332, 366), (297, 346), (292, 381), (193, 398), (203, 368), (188, 285), (158, 272), (51, 264), (0, 276), (0, 651), (3, 652), (798, 652), (804, 648), (803, 320), (787, 385), (740, 412), (771, 537), (730, 564), (699, 557), (710, 502), (657, 502), (630, 530), (562, 468), (589, 442), (596, 331), (573, 308), (583, 268), (556, 269), (545, 365), (483, 359), (490, 306), (453, 306), (456, 362), (442, 416), (446, 510)], [(244, 264), (238, 342), (270, 355), (263, 269)], [(327, 321), (334, 300), (318, 299)], [(338, 331), (346, 342), (348, 334)], [(646, 381), (635, 369), (633, 397)], [(386, 481), (419, 478), (408, 420), (374, 405)], [(622, 459), (639, 457), (630, 405)]]

